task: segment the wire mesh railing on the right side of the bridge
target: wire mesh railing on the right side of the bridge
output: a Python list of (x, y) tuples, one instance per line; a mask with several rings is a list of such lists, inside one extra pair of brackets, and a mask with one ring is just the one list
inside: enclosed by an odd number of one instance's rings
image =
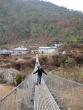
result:
[(44, 80), (61, 110), (83, 110), (83, 84), (52, 74)]

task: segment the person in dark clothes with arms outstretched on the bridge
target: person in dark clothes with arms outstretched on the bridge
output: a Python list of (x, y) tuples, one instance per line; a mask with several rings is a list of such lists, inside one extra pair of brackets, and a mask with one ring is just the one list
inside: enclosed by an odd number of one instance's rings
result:
[(38, 84), (41, 84), (42, 73), (44, 73), (46, 75), (47, 75), (47, 73), (40, 66), (38, 66), (37, 68), (38, 69), (33, 74), (37, 73), (37, 85), (38, 85)]

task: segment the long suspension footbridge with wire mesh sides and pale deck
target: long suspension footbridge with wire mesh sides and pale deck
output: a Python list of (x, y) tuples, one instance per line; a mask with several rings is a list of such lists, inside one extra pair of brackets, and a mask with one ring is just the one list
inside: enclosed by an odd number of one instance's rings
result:
[[(36, 55), (33, 72), (38, 65)], [(49, 74), (43, 76), (41, 85), (35, 85), (33, 72), (0, 100), (0, 110), (83, 110), (82, 84)]]

